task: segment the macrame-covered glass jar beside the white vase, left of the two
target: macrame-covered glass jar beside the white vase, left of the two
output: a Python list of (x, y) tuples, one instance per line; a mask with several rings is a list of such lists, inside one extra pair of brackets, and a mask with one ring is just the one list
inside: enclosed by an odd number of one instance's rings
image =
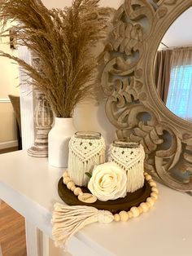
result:
[(87, 186), (94, 166), (105, 161), (105, 142), (98, 132), (76, 132), (69, 142), (68, 175), (78, 186)]

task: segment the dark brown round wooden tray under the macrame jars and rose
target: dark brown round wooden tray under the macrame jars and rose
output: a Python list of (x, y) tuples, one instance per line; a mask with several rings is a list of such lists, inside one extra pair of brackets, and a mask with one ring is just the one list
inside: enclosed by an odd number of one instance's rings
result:
[[(82, 192), (89, 192), (88, 188), (80, 187)], [(138, 189), (136, 192), (127, 193), (124, 198), (118, 198), (116, 200), (99, 201), (97, 200), (93, 204), (87, 204), (79, 201), (77, 196), (73, 194), (71, 190), (63, 183), (63, 177), (59, 179), (58, 192), (61, 199), (67, 205), (87, 205), (93, 206), (98, 210), (109, 210), (112, 214), (118, 214), (121, 210), (129, 211), (131, 207), (138, 206), (142, 202), (146, 201), (146, 198), (151, 194), (150, 184), (146, 182), (144, 186)]]

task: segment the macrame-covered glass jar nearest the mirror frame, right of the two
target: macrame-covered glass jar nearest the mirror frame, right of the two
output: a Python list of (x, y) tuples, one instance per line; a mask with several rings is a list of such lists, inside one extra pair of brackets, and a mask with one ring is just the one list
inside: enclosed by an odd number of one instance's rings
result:
[(126, 170), (127, 192), (135, 192), (144, 184), (145, 152), (142, 144), (116, 140), (111, 144), (109, 161)]

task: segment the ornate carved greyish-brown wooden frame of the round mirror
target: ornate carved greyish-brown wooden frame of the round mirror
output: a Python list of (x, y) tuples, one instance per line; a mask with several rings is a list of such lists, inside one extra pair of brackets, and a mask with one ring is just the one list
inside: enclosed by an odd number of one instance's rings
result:
[(191, 0), (125, 0), (116, 11), (102, 75), (107, 117), (118, 138), (142, 143), (145, 169), (185, 192), (192, 190), (192, 123), (159, 98), (154, 61), (168, 27), (191, 6)]

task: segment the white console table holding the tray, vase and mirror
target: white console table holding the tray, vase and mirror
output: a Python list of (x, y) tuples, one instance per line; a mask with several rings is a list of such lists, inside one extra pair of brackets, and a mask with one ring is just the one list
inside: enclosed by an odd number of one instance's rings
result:
[[(28, 256), (49, 255), (33, 246), (38, 228), (51, 238), (51, 211), (63, 169), (26, 151), (0, 155), (0, 198), (24, 216)], [(127, 223), (91, 224), (68, 244), (74, 256), (191, 256), (192, 197), (159, 184), (159, 200), (139, 218)], [(1, 234), (0, 234), (1, 236)], [(30, 241), (32, 240), (32, 241)], [(50, 256), (57, 256), (52, 254)]]

